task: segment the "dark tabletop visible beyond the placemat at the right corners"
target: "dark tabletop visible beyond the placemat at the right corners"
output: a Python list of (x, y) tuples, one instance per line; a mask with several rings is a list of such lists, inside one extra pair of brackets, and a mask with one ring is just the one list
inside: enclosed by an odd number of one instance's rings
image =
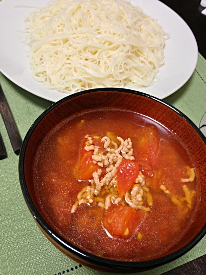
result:
[[(186, 21), (195, 35), (199, 52), (206, 59), (206, 16), (201, 13), (204, 8), (200, 6), (200, 1), (161, 0)], [(206, 255), (168, 271), (164, 275), (206, 275)]]

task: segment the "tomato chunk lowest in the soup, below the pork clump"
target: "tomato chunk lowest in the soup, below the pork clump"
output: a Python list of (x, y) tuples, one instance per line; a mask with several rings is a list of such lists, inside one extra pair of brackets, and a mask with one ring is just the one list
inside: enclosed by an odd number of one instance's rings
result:
[(103, 226), (113, 237), (128, 238), (142, 221), (142, 211), (129, 206), (111, 205), (104, 213)]

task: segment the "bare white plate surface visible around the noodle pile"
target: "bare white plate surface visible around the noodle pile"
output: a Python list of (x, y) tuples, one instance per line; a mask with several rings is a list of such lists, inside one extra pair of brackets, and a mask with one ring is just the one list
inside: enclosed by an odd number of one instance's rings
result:
[[(0, 71), (23, 89), (56, 102), (68, 94), (46, 89), (43, 83), (32, 78), (27, 56), (29, 48), (19, 42), (16, 35), (17, 30), (24, 30), (24, 17), (33, 9), (14, 6), (45, 6), (47, 2), (48, 0), (1, 1)], [(157, 19), (165, 32), (171, 36), (166, 41), (165, 65), (157, 74), (159, 82), (138, 89), (163, 99), (183, 86), (195, 70), (198, 57), (197, 42), (185, 21), (165, 4), (158, 0), (131, 0), (131, 2), (133, 5), (139, 5), (147, 15)]]

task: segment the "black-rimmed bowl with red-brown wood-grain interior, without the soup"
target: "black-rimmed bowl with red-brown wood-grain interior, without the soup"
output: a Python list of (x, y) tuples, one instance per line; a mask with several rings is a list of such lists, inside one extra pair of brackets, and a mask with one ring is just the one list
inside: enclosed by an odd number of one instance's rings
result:
[[(96, 108), (118, 108), (148, 116), (177, 133), (186, 146), (197, 177), (201, 201), (188, 233), (160, 258), (144, 262), (118, 262), (80, 250), (59, 236), (47, 223), (33, 190), (33, 156), (47, 133), (63, 119)], [(137, 272), (170, 262), (189, 251), (206, 233), (206, 141), (190, 119), (163, 101), (127, 89), (93, 89), (68, 96), (49, 107), (33, 123), (21, 148), (19, 178), (25, 201), (46, 237), (63, 253), (81, 264), (111, 272)]]

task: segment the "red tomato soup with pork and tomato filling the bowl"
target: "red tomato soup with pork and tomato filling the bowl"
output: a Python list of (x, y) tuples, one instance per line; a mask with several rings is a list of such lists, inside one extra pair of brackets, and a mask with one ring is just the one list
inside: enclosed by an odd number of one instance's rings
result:
[(51, 130), (35, 156), (33, 182), (57, 233), (118, 261), (165, 254), (187, 233), (199, 200), (176, 134), (118, 110), (80, 113)]

